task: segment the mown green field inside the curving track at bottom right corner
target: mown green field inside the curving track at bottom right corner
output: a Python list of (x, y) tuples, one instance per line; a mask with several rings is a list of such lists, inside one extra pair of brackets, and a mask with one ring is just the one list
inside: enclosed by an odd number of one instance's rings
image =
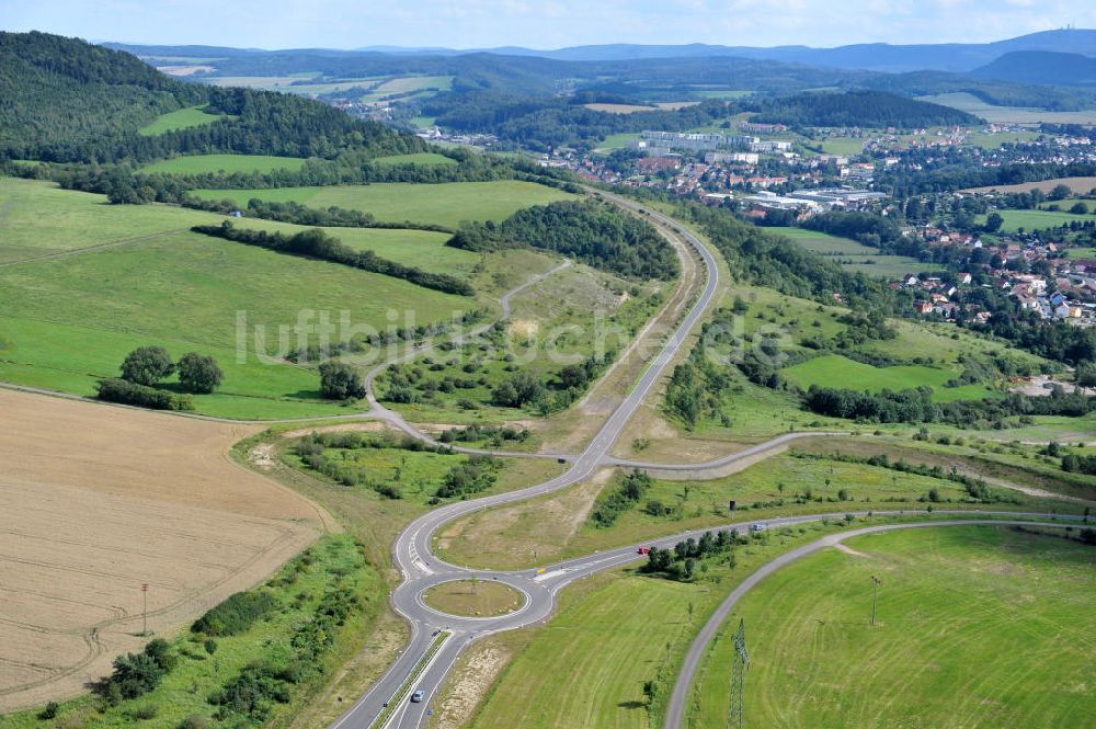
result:
[[(875, 534), (784, 568), (705, 659), (690, 727), (722, 726), (744, 619), (745, 719), (769, 727), (1083, 726), (1092, 718), (1094, 547), (1007, 527)], [(879, 586), (870, 623), (871, 577)], [(977, 668), (975, 668), (977, 667)]]

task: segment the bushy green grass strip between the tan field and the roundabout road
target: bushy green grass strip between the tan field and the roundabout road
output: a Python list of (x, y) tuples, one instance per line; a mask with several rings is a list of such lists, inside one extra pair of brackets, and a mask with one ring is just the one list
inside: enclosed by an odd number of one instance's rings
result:
[[(187, 631), (171, 638), (170, 652), (176, 663), (158, 687), (114, 705), (94, 694), (66, 702), (57, 711), (57, 726), (113, 729), (139, 721), (148, 729), (176, 729), (192, 717), (195, 724), (191, 726), (220, 726), (219, 721), (285, 726), (317, 694), (324, 676), (353, 656), (355, 634), (385, 608), (384, 590), (379, 572), (365, 562), (352, 538), (326, 537), (264, 585), (249, 591), (271, 601), (270, 610), (259, 611), (250, 627), (233, 635)], [(322, 622), (323, 611), (333, 601), (350, 601), (352, 608), (341, 625), (328, 626), (329, 641), (307, 628)], [(309, 656), (315, 651), (315, 659), (301, 658), (305, 648)], [(270, 691), (277, 684), (278, 699), (271, 693), (266, 700), (246, 702), (250, 710), (212, 700), (253, 664), (271, 667), (271, 675), (281, 676), (264, 686)], [(0, 724), (10, 729), (41, 727), (39, 710), (10, 715)]]

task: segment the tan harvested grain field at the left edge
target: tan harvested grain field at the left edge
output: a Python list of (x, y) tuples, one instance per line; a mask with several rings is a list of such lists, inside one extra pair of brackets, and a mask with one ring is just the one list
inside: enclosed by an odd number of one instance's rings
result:
[(237, 466), (254, 428), (0, 389), (0, 713), (272, 574), (330, 517)]

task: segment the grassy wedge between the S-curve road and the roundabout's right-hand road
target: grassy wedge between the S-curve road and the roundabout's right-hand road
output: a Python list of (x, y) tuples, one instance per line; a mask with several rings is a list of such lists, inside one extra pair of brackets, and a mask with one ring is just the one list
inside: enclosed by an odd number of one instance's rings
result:
[[(533, 561), (550, 563), (731, 521), (749, 524), (758, 519), (785, 515), (924, 511), (929, 506), (1059, 513), (1084, 510), (1082, 504), (1029, 497), (992, 482), (987, 486), (987, 499), (972, 499), (963, 483), (947, 476), (952, 466), (978, 474), (994, 465), (973, 457), (943, 457), (886, 447), (858, 448), (856, 442), (841, 438), (820, 440), (817, 447), (806, 447), (810, 453), (773, 456), (722, 478), (705, 481), (655, 479), (641, 499), (624, 510), (610, 526), (598, 526), (586, 514), (618, 488), (620, 474), (604, 487), (584, 483), (520, 504), (484, 510), (446, 527), (438, 537), (438, 554), (446, 561), (458, 565), (517, 569)], [(883, 454), (891, 464), (901, 460), (927, 468), (937, 466), (939, 477), (913, 472), (909, 468), (899, 470), (830, 457), (835, 451), (842, 457), (857, 460)], [(1021, 471), (1018, 467), (998, 467), (1006, 471), (1005, 479), (1018, 476), (1038, 479), (1037, 474)], [(935, 497), (929, 496), (932, 492)], [(734, 514), (728, 512), (731, 500), (737, 502)], [(578, 513), (580, 517), (555, 516), (560, 512)]]

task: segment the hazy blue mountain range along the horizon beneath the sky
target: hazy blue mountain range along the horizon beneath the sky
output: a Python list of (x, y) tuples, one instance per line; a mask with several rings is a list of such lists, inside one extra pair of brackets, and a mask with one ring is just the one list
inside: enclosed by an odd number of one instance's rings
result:
[[(297, 48), (262, 52), (255, 49), (224, 48), (218, 46), (142, 46), (121, 43), (104, 44), (140, 56), (179, 56), (189, 58), (233, 57), (241, 54), (298, 54), (309, 56), (345, 57), (361, 54), (404, 56), (464, 56), (492, 54), (499, 56), (532, 56), (560, 61), (619, 61), (658, 58), (739, 57), (756, 60), (775, 60), (842, 69), (863, 69), (884, 72), (937, 70), (967, 72), (989, 66), (1007, 54), (1018, 52), (1050, 52), (1096, 57), (1096, 30), (1069, 29), (1032, 33), (993, 43), (948, 43), (890, 45), (865, 43), (836, 48), (808, 46), (721, 46), (694, 43), (689, 45), (633, 45), (607, 44), (572, 46), (555, 50), (537, 50), (518, 46), (455, 50), (453, 48), (406, 48), (400, 46), (367, 46), (354, 50)], [(992, 71), (991, 71), (992, 72)], [(996, 78), (996, 77), (987, 77)]]

